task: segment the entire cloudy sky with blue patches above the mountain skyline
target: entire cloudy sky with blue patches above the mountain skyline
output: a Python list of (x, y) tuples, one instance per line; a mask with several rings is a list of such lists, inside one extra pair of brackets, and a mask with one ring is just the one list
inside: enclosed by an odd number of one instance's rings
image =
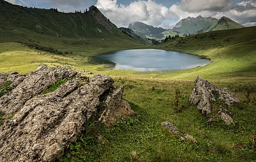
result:
[(6, 0), (15, 5), (84, 11), (95, 5), (118, 27), (143, 22), (173, 28), (179, 20), (196, 16), (220, 19), (227, 16), (243, 26), (256, 26), (256, 0)]

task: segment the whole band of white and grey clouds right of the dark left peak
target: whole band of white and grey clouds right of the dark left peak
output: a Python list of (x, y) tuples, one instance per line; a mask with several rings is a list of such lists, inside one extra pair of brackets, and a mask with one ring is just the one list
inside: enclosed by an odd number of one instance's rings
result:
[(227, 16), (245, 26), (256, 22), (256, 0), (233, 3), (230, 0), (181, 0), (169, 9), (152, 0), (134, 1), (130, 5), (117, 5), (118, 0), (97, 0), (96, 6), (117, 26), (127, 27), (140, 21), (155, 27), (172, 28), (174, 22), (188, 16), (221, 18)]

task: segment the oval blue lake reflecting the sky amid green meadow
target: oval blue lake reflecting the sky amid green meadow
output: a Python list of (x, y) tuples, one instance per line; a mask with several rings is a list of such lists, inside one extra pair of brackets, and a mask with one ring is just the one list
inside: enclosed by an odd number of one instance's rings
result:
[(209, 64), (210, 60), (187, 53), (159, 49), (132, 49), (94, 56), (93, 62), (113, 64), (114, 69), (143, 72), (195, 68)]

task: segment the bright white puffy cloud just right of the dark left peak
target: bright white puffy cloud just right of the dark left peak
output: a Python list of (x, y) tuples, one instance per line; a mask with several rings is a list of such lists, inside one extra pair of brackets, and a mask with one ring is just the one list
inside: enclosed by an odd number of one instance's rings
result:
[(127, 27), (131, 22), (140, 21), (159, 26), (164, 20), (174, 18), (168, 8), (155, 1), (134, 1), (130, 5), (117, 5), (117, 0), (98, 0), (96, 6), (117, 26)]

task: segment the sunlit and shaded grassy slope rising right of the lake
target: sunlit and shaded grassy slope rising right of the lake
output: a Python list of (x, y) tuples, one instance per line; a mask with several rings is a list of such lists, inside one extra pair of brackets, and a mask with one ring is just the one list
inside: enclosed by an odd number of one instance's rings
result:
[(207, 32), (168, 40), (159, 49), (193, 53), (207, 57), (212, 64), (179, 73), (160, 73), (160, 77), (174, 77), (192, 80), (196, 76), (207, 79), (232, 77), (253, 77), (256, 68), (256, 27)]

